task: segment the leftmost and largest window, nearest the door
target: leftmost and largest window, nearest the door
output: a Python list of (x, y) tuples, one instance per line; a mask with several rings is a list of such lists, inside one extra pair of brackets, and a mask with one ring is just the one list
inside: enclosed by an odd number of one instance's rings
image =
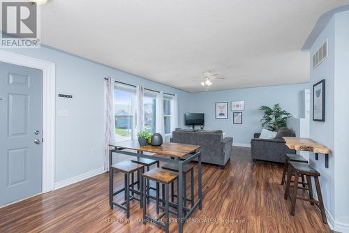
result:
[(114, 89), (115, 134), (117, 142), (133, 139), (135, 123), (135, 90), (119, 87)]

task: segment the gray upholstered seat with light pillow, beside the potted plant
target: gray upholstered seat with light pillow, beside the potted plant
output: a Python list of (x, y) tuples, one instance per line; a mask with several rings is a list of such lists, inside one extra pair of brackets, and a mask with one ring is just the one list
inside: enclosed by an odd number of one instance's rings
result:
[(274, 139), (258, 138), (260, 133), (255, 133), (251, 140), (251, 156), (253, 162), (266, 160), (277, 163), (285, 163), (285, 153), (296, 153), (288, 149), (282, 137), (295, 137), (295, 132), (288, 128), (281, 128)]

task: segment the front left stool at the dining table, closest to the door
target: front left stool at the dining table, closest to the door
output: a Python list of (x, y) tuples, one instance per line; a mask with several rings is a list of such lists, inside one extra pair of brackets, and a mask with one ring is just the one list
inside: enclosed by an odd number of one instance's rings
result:
[[(114, 192), (114, 170), (117, 172), (124, 173), (124, 188), (117, 190)], [(131, 163), (130, 161), (123, 161), (121, 163), (116, 163), (111, 165), (109, 168), (109, 204), (110, 209), (113, 209), (113, 206), (118, 206), (120, 209), (124, 209), (126, 211), (127, 218), (130, 218), (130, 201), (138, 200), (140, 202), (140, 208), (142, 208), (142, 183), (140, 186), (140, 190), (135, 190), (134, 188), (130, 188), (130, 174), (134, 172), (140, 172), (141, 174), (144, 172), (144, 166), (136, 163)], [(130, 197), (130, 191), (133, 193)], [(114, 196), (124, 192), (125, 200), (121, 204), (117, 204), (114, 202)], [(140, 199), (136, 198), (134, 194), (140, 195)], [(126, 207), (124, 206), (126, 204)]]

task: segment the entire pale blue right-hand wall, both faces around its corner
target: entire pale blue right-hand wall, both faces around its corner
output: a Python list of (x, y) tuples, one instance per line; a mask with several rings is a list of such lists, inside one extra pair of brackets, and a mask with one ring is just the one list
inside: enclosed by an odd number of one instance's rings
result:
[[(328, 57), (317, 68), (311, 68), (311, 86), (325, 79), (326, 113), (325, 122), (311, 121), (310, 137), (332, 150), (329, 168), (325, 168), (325, 157), (310, 163), (321, 173), (322, 196), (325, 199), (327, 219), (333, 230), (349, 232), (349, 193), (347, 171), (349, 167), (349, 11), (336, 13), (320, 36), (313, 41), (310, 54), (328, 40)], [(312, 67), (312, 61), (309, 64)], [(312, 95), (312, 93), (311, 93)], [(311, 113), (312, 114), (312, 113)]]

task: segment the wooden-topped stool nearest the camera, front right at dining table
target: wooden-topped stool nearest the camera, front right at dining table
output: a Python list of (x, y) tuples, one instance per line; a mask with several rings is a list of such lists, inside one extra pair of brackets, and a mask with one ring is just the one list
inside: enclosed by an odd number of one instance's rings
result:
[[(170, 213), (170, 211), (169, 211), (168, 207), (169, 207), (170, 200), (168, 198), (168, 186), (170, 183), (172, 183), (177, 178), (178, 178), (177, 172), (172, 172), (170, 170), (165, 170), (165, 169), (158, 168), (158, 167), (150, 170), (149, 172), (144, 172), (142, 174), (143, 186), (145, 186), (145, 183), (147, 180), (156, 181), (157, 183), (162, 183), (165, 186), (165, 199), (163, 200), (163, 202), (165, 202), (165, 211), (160, 216), (158, 216), (158, 218), (152, 218), (151, 216), (147, 215), (147, 202), (145, 201), (146, 200), (146, 190), (145, 190), (145, 188), (143, 189), (143, 202), (144, 202), (143, 224), (146, 224), (147, 220), (151, 220), (151, 222), (154, 222), (157, 225), (165, 228), (166, 233), (169, 232), (169, 225), (170, 225), (169, 213)], [(159, 202), (159, 197), (158, 197), (158, 195), (156, 195), (156, 206), (158, 206), (158, 202)], [(165, 216), (165, 223), (161, 223), (161, 218), (163, 218), (163, 216)]]

